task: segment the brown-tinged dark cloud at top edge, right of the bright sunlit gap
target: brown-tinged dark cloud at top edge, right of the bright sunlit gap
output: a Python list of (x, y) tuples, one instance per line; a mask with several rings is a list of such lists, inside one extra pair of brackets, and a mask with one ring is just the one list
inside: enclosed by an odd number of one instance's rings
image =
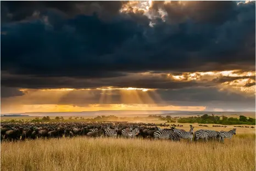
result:
[(164, 9), (168, 14), (166, 19), (169, 22), (184, 22), (192, 19), (201, 23), (222, 24), (236, 15), (237, 2), (232, 1), (190, 1), (179, 2), (153, 1), (152, 9), (158, 13), (158, 9)]

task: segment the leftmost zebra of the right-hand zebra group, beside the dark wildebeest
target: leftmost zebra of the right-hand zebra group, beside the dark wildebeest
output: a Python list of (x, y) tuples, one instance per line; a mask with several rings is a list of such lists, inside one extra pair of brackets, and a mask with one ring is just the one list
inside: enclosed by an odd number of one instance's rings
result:
[(156, 130), (154, 132), (154, 139), (171, 139), (172, 141), (180, 141), (180, 137), (177, 133), (171, 130)]

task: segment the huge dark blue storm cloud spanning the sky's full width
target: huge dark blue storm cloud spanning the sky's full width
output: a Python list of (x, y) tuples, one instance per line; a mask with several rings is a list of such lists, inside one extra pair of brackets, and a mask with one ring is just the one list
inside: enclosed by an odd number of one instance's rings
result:
[(255, 69), (255, 4), (228, 4), (226, 13), (236, 13), (219, 25), (212, 21), (215, 15), (204, 19), (207, 23), (159, 21), (150, 27), (150, 19), (144, 18), (144, 25), (125, 14), (103, 21), (97, 13), (67, 19), (54, 12), (3, 24), (1, 70), (38, 77), (113, 77), (120, 71)]

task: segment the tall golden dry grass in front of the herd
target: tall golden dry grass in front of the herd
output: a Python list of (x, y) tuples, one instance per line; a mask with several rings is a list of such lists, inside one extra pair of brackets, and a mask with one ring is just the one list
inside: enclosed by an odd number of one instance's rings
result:
[(1, 170), (255, 170), (255, 134), (225, 144), (50, 139), (1, 144)]

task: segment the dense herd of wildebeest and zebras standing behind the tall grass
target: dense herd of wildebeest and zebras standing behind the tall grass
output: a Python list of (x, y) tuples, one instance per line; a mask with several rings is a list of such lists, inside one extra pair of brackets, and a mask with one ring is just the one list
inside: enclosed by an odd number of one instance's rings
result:
[[(171, 124), (169, 128), (163, 124), (155, 123), (130, 123), (130, 122), (49, 122), (49, 123), (1, 123), (2, 141), (24, 141), (26, 139), (41, 138), (71, 138), (74, 136), (84, 137), (114, 137), (114, 138), (143, 138), (143, 139), (170, 139), (180, 141), (188, 139), (197, 141), (198, 139), (219, 139), (224, 142), (224, 138), (231, 138), (236, 134), (236, 128), (229, 132), (217, 132), (215, 130), (200, 129), (194, 132), (193, 126), (186, 132), (183, 125)], [(203, 126), (203, 125), (199, 125)]]

